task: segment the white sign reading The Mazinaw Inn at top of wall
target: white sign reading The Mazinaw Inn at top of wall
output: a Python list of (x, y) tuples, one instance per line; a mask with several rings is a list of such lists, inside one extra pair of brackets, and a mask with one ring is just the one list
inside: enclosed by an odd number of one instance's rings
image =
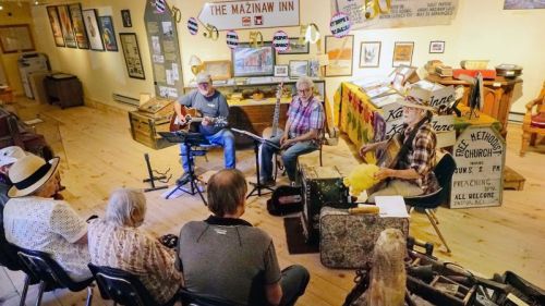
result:
[(198, 20), (218, 30), (299, 26), (299, 0), (207, 2)]

